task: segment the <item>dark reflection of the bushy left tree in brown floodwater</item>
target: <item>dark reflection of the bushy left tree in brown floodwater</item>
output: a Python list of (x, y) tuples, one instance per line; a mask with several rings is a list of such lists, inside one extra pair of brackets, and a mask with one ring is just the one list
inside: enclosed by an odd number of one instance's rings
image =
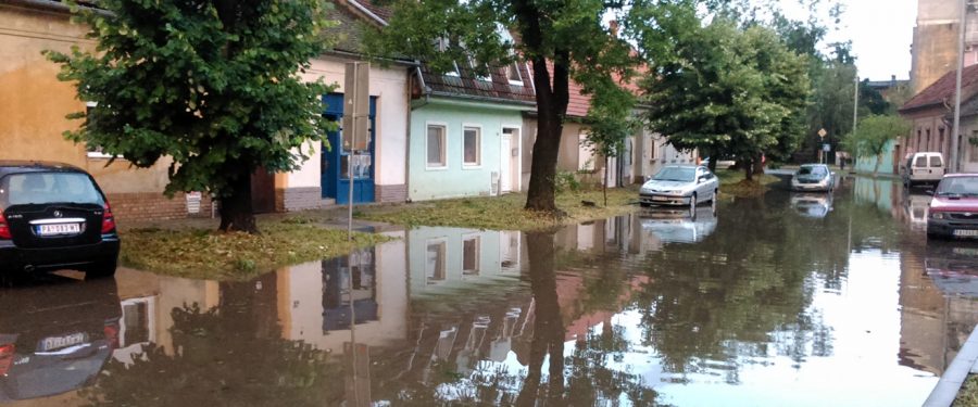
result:
[[(225, 284), (223, 284), (225, 285)], [(95, 386), (91, 405), (324, 406), (343, 399), (342, 367), (309, 344), (278, 338), (261, 301), (242, 297), (253, 283), (223, 287), (220, 308), (172, 310), (173, 348), (143, 345), (126, 366), (114, 359)], [(269, 308), (268, 313), (274, 311)]]

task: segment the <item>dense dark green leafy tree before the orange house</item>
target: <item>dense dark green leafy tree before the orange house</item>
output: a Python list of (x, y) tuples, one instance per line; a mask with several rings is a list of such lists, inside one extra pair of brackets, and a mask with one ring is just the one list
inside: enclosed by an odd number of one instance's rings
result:
[[(75, 142), (149, 167), (172, 157), (165, 193), (209, 191), (221, 230), (258, 232), (251, 174), (298, 169), (331, 126), (321, 96), (298, 73), (319, 55), (329, 23), (315, 0), (99, 1), (73, 7), (93, 52), (47, 52), (59, 79), (96, 101)], [(115, 160), (115, 158), (113, 158)]]

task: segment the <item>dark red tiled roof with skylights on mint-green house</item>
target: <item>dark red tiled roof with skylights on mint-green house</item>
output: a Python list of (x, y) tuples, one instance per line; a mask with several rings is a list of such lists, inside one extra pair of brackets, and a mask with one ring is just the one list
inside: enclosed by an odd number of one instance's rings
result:
[(517, 64), (523, 85), (512, 85), (506, 78), (505, 69), (497, 67), (490, 69), (492, 80), (480, 80), (467, 66), (459, 64), (460, 75), (439, 75), (431, 72), (427, 65), (422, 65), (426, 91), (436, 96), (476, 98), (493, 101), (511, 101), (516, 103), (534, 103), (534, 85), (530, 80), (526, 64)]

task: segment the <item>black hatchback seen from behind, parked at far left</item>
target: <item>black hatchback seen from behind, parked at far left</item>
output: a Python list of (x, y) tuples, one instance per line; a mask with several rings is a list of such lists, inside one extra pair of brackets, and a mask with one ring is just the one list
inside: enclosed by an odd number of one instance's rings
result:
[(58, 269), (112, 276), (118, 244), (109, 201), (88, 173), (0, 161), (0, 278)]

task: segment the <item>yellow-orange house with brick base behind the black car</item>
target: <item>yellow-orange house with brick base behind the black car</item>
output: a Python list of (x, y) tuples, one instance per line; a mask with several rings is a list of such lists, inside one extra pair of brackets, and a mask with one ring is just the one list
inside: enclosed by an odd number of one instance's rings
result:
[(183, 193), (163, 195), (168, 160), (150, 168), (130, 167), (125, 160), (110, 165), (109, 156), (62, 137), (80, 125), (65, 115), (85, 111), (86, 102), (77, 99), (73, 85), (58, 80), (59, 65), (41, 51), (70, 52), (74, 46), (91, 50), (96, 43), (85, 38), (87, 31), (71, 22), (68, 7), (60, 1), (0, 2), (0, 160), (62, 162), (87, 170), (123, 222), (210, 216), (205, 194), (199, 201)]

